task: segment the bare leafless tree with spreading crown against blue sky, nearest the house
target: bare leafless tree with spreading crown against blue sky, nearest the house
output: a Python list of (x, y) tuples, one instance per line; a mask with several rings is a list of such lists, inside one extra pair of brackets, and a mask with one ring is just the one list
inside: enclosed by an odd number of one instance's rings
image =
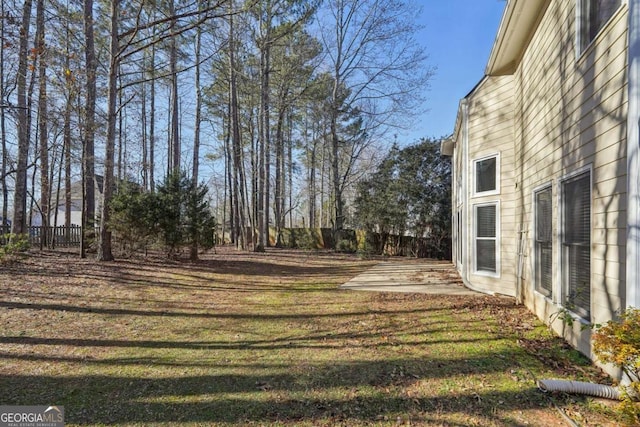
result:
[[(343, 228), (344, 175), (340, 148), (355, 117), (364, 118), (367, 138), (419, 111), (431, 70), (415, 42), (415, 8), (397, 0), (330, 0), (320, 20), (331, 64), (331, 154), (335, 228)], [(357, 154), (352, 151), (352, 154)], [(351, 162), (347, 162), (350, 164)]]

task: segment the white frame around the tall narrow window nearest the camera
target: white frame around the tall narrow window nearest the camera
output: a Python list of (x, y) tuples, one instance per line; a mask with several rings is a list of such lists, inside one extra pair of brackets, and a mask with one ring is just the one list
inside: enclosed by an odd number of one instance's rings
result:
[[(589, 164), (585, 167), (582, 167), (580, 169), (577, 169), (576, 171), (564, 175), (562, 177), (560, 177), (558, 179), (558, 229), (559, 229), (559, 233), (557, 234), (558, 238), (557, 238), (557, 248), (558, 250), (557, 252), (557, 262), (558, 262), (558, 266), (559, 268), (557, 268), (556, 270), (556, 286), (554, 287), (554, 301), (556, 302), (556, 304), (558, 304), (560, 307), (562, 308), (566, 308), (567, 310), (569, 310), (571, 313), (573, 313), (573, 316), (576, 320), (588, 323), (590, 321), (590, 319), (585, 318), (585, 316), (583, 316), (581, 313), (576, 313), (575, 311), (571, 310), (571, 307), (567, 307), (565, 306), (565, 292), (566, 292), (566, 287), (568, 286), (568, 282), (566, 280), (566, 276), (568, 274), (567, 271), (567, 265), (565, 265), (565, 247), (564, 247), (564, 236), (565, 236), (565, 229), (566, 229), (566, 224), (565, 224), (565, 203), (564, 203), (564, 184), (567, 183), (568, 181), (571, 181), (573, 179), (578, 178), (580, 175), (583, 174), (588, 174), (589, 175), (589, 200), (590, 200), (590, 207), (589, 207), (589, 212), (590, 212), (590, 217), (589, 217), (589, 234), (590, 234), (590, 241), (593, 242), (593, 165)], [(593, 256), (591, 251), (589, 251), (589, 265), (590, 267), (593, 265)], [(589, 271), (589, 276), (591, 278), (592, 276), (592, 269), (590, 268)], [(590, 299), (590, 305), (593, 306), (593, 283), (589, 283), (590, 289), (589, 289), (589, 299)], [(589, 307), (589, 315), (591, 315), (591, 307)]]

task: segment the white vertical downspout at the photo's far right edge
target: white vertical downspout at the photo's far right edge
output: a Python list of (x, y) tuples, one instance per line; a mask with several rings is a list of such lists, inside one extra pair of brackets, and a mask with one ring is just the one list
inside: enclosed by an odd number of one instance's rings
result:
[(640, 307), (640, 0), (629, 3), (625, 307)]

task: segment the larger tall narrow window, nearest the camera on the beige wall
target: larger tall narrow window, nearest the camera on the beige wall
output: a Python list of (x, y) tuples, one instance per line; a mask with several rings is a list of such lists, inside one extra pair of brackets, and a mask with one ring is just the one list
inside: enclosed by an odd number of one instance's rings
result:
[(589, 319), (591, 315), (591, 176), (562, 184), (562, 303)]

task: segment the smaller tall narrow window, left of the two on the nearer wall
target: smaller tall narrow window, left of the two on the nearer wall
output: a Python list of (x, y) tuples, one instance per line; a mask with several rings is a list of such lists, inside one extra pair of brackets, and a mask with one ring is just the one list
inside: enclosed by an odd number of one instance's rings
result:
[(535, 283), (536, 290), (548, 297), (553, 290), (551, 201), (551, 187), (535, 193)]

